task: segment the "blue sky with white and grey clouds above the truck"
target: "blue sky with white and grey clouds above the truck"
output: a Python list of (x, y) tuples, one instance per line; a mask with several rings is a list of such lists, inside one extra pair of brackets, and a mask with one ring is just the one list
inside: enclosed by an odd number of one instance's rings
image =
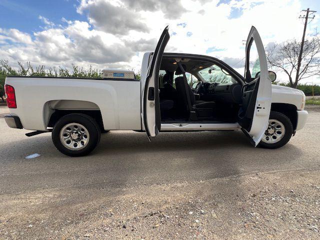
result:
[[(320, 11), (320, 1), (0, 0), (0, 59), (137, 71), (143, 52), (154, 50), (169, 25), (165, 51), (212, 55), (242, 73), (250, 26), (264, 45), (300, 39), (298, 16), (307, 7)], [(319, 14), (307, 34), (320, 30)]]

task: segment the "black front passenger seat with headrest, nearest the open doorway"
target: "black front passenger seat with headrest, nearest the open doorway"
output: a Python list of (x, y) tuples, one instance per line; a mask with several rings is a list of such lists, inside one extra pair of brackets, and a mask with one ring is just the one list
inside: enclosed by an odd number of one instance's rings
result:
[[(182, 64), (182, 67), (185, 69), (185, 65)], [(182, 71), (178, 67), (175, 71), (175, 75), (181, 75)], [(180, 107), (183, 107), (186, 111), (191, 111), (192, 109), (188, 109), (188, 98), (190, 99), (191, 106), (195, 108), (197, 111), (197, 115), (199, 117), (212, 117), (213, 116), (213, 110), (215, 108), (215, 102), (214, 101), (201, 101), (201, 100), (195, 100), (193, 91), (191, 90), (191, 87), (187, 84), (186, 79), (184, 79), (183, 76), (178, 76), (174, 79), (175, 81), (175, 87), (177, 91), (177, 104)], [(188, 96), (187, 96), (188, 94)], [(203, 109), (207, 108), (207, 109)]]

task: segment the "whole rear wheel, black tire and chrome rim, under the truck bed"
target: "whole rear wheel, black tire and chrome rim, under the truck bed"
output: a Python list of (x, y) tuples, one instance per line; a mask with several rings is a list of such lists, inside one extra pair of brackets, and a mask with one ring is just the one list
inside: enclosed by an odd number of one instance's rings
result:
[(100, 128), (96, 121), (82, 113), (62, 116), (52, 129), (55, 147), (68, 156), (84, 156), (91, 152), (100, 140)]

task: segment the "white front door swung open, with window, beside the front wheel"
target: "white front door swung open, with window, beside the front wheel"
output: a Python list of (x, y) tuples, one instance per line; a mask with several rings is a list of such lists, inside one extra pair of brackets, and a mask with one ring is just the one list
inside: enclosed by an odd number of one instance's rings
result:
[(242, 131), (256, 146), (268, 126), (271, 108), (271, 79), (264, 47), (258, 31), (251, 27), (245, 46), (245, 82), (238, 122)]

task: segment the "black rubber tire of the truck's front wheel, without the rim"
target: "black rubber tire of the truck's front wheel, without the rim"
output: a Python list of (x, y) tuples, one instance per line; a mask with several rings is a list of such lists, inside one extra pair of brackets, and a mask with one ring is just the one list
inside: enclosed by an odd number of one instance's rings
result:
[(274, 143), (266, 143), (261, 140), (259, 142), (259, 146), (263, 147), (263, 148), (269, 148), (269, 149), (274, 149), (274, 148), (284, 146), (290, 140), (290, 138), (293, 134), (292, 122), (290, 121), (290, 119), (286, 115), (282, 114), (281, 112), (277, 112), (277, 111), (271, 111), (269, 119), (276, 119), (276, 120), (280, 121), (284, 125), (285, 133), (279, 141), (274, 142)]

